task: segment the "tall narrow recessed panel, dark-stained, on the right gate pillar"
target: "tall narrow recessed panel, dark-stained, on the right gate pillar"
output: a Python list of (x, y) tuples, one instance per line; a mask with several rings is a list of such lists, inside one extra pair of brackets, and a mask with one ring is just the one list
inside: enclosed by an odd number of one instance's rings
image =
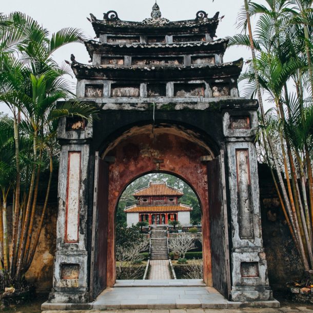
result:
[(236, 149), (239, 236), (253, 239), (249, 150)]

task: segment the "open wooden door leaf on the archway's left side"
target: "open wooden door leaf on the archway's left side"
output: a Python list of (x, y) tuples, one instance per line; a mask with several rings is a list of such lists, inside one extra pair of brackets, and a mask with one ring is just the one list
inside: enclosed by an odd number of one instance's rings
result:
[(95, 154), (94, 195), (92, 215), (91, 271), (89, 298), (93, 301), (106, 287), (107, 224), (108, 224), (108, 164)]

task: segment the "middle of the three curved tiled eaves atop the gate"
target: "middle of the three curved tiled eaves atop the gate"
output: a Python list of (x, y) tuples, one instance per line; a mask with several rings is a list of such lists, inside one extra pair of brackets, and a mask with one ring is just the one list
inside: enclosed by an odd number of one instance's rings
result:
[(171, 47), (194, 47), (194, 46), (213, 46), (217, 44), (222, 44), (222, 43), (228, 43), (229, 38), (219, 38), (217, 40), (214, 40), (212, 42), (190, 42), (190, 43), (172, 43), (172, 44), (167, 44), (167, 43), (160, 43), (160, 44), (108, 44), (108, 43), (101, 43), (99, 41), (90, 39), (90, 40), (85, 40), (84, 43), (86, 44), (94, 44), (98, 46), (107, 46), (107, 47), (126, 47), (126, 48), (171, 48)]

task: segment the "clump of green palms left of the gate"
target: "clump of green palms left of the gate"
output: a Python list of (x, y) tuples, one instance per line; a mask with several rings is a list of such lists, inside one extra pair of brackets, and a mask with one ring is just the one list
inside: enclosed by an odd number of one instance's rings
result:
[[(19, 12), (2, 15), (0, 19), (0, 102), (4, 102), (13, 115), (16, 165), (9, 256), (9, 274), (15, 282), (21, 280), (31, 264), (43, 225), (53, 170), (51, 143), (55, 144), (57, 120), (79, 116), (91, 121), (95, 116), (96, 109), (89, 104), (69, 101), (73, 94), (64, 78), (69, 71), (64, 66), (59, 67), (52, 58), (52, 53), (58, 48), (82, 40), (81, 31), (71, 28), (50, 36), (31, 17)], [(59, 104), (60, 100), (67, 102)], [(20, 148), (24, 137), (32, 142), (32, 147), (25, 152), (27, 158), (21, 160)], [(32, 163), (25, 164), (29, 158)], [(34, 232), (38, 186), (46, 167), (50, 172), (46, 201), (40, 229)], [(21, 187), (24, 188), (23, 193)]]

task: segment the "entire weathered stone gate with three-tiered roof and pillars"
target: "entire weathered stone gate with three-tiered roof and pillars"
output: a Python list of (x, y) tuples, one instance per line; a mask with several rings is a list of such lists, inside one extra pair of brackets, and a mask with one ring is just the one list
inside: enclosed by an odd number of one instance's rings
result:
[(223, 63), (219, 13), (170, 22), (157, 4), (143, 22), (91, 15), (77, 100), (101, 118), (63, 119), (52, 303), (94, 300), (115, 283), (114, 214), (127, 185), (166, 172), (202, 208), (204, 282), (232, 301), (271, 300), (262, 243), (258, 103), (239, 96), (243, 60)]

